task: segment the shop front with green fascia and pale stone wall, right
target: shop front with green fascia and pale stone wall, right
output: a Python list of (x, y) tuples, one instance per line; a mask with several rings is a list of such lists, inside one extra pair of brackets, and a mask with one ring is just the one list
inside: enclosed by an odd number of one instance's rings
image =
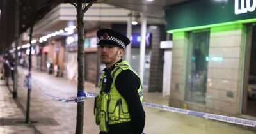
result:
[(255, 8), (255, 0), (198, 0), (166, 8), (172, 107), (255, 119)]

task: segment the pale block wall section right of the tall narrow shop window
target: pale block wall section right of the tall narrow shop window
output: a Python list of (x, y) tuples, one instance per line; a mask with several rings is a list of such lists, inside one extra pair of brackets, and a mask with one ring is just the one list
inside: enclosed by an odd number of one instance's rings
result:
[[(225, 31), (219, 30), (223, 27), (211, 29), (205, 107), (209, 112), (237, 114), (242, 71), (239, 63), (243, 61), (242, 25), (225, 28)], [(211, 57), (222, 60), (211, 60)]]

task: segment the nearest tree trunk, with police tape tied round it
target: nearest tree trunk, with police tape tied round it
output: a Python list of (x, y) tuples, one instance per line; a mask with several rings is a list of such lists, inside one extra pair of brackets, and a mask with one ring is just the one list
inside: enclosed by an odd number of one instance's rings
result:
[[(77, 11), (77, 32), (78, 32), (78, 49), (77, 49), (77, 61), (78, 61), (78, 91), (84, 91), (84, 22), (83, 22), (83, 1), (76, 1)], [(76, 134), (83, 134), (84, 126), (84, 102), (77, 102), (77, 116), (76, 116)]]

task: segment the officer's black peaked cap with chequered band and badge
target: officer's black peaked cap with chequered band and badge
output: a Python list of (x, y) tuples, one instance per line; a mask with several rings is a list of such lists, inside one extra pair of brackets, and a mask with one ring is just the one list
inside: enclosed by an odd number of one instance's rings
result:
[(97, 45), (116, 45), (121, 48), (129, 45), (130, 40), (124, 34), (111, 29), (100, 29), (97, 31), (99, 43)]

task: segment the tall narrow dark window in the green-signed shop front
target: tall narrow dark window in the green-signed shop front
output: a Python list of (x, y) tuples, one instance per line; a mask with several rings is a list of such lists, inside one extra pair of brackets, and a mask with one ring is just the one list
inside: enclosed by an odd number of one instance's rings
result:
[(186, 64), (185, 100), (205, 103), (209, 31), (188, 33), (188, 57)]

